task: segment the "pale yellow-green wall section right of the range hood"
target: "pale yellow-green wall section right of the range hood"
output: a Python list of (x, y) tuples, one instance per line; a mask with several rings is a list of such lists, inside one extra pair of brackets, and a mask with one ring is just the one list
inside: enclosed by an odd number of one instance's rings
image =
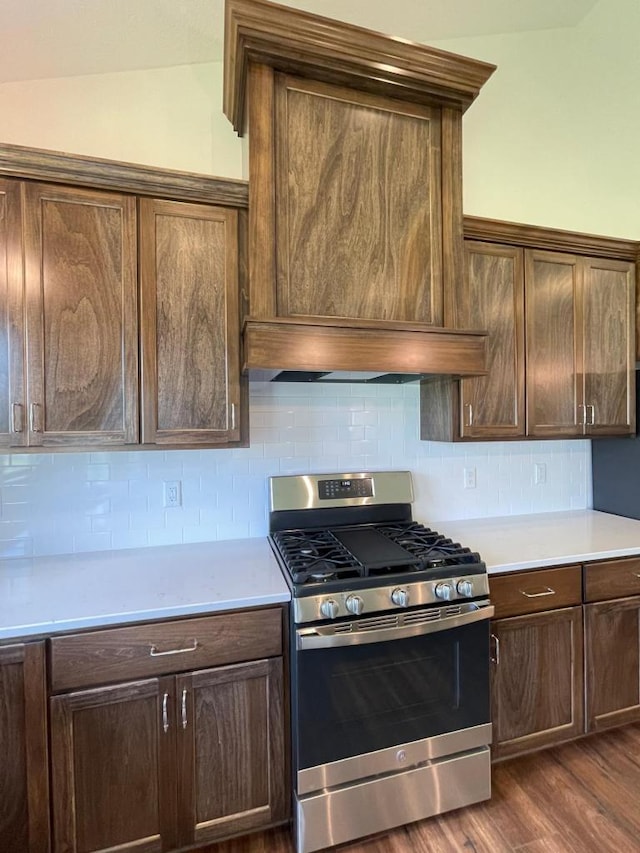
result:
[(640, 238), (640, 3), (600, 0), (579, 27), (439, 46), (498, 70), (464, 119), (477, 216)]

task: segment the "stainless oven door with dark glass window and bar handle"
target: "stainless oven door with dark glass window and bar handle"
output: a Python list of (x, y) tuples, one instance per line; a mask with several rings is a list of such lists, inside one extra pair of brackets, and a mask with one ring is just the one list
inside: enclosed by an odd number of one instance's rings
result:
[(394, 763), (411, 766), (490, 743), (493, 611), (488, 602), (470, 602), (298, 628), (298, 793), (388, 772), (391, 747)]

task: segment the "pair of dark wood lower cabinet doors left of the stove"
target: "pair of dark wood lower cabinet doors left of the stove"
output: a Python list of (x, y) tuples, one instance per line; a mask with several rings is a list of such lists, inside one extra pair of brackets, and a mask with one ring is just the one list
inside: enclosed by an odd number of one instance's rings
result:
[(155, 853), (285, 820), (282, 659), (51, 699), (54, 850)]

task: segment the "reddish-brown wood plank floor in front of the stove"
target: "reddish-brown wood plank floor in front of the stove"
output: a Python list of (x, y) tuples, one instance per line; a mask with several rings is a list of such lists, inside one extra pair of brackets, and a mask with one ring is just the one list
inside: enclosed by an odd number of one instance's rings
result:
[[(286, 829), (202, 853), (293, 853)], [(490, 801), (335, 853), (640, 853), (640, 724), (498, 764)]]

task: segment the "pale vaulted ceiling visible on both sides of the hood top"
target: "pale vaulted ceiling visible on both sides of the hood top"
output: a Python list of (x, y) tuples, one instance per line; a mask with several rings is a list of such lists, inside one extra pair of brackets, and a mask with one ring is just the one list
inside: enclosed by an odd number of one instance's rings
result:
[[(429, 44), (573, 27), (598, 0), (288, 0)], [(224, 0), (2, 0), (0, 83), (212, 62)]]

